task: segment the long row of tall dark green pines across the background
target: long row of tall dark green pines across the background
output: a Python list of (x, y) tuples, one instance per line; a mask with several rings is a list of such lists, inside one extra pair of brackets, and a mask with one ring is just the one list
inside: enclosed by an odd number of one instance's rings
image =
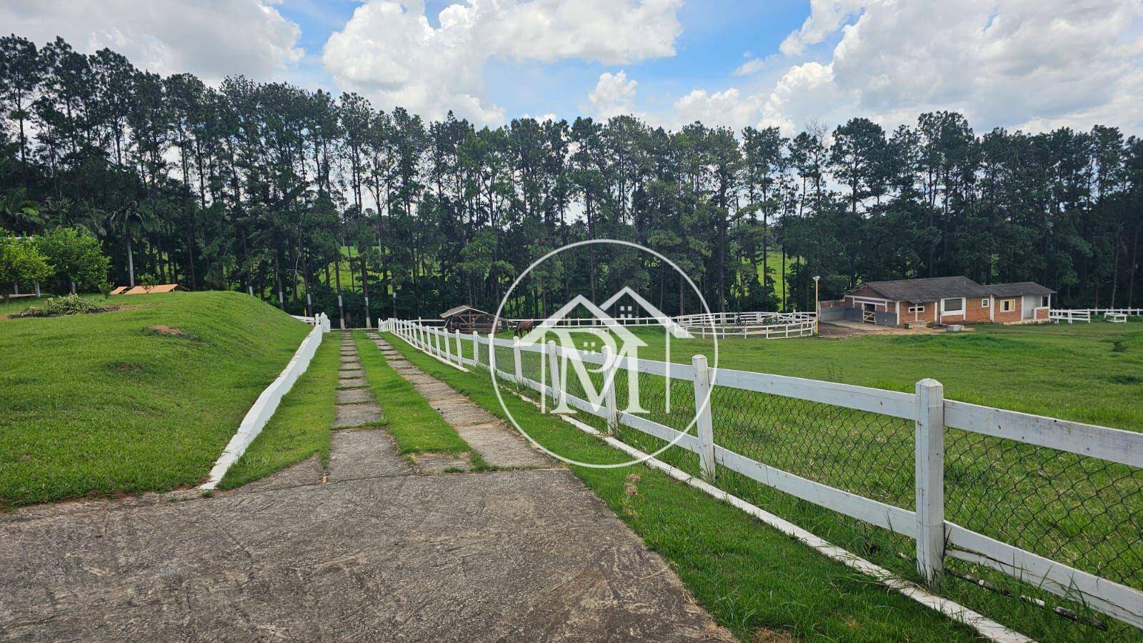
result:
[[(735, 132), (632, 116), (425, 121), (357, 94), (141, 71), (0, 39), (0, 225), (82, 228), (115, 284), (248, 291), (291, 311), (495, 308), (565, 244), (634, 241), (714, 310), (806, 310), (863, 280), (1036, 280), (1138, 305), (1143, 140), (1116, 127), (973, 130), (956, 112)], [(630, 285), (697, 311), (673, 270), (607, 247), (545, 264), (509, 312)], [(338, 297), (338, 295), (342, 295)], [(341, 303), (339, 303), (341, 302)]]

